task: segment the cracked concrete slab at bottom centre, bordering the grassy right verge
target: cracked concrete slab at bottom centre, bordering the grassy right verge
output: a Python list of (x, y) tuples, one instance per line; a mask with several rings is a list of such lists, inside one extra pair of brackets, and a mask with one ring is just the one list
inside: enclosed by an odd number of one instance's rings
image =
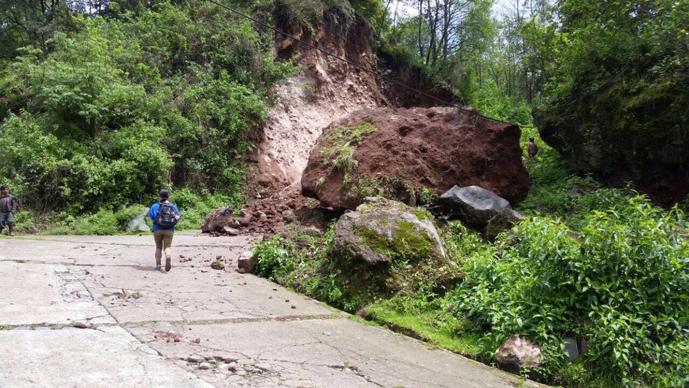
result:
[[(217, 386), (512, 387), (515, 381), (449, 351), (349, 319), (169, 329), (180, 342), (167, 342), (161, 329), (130, 331)], [(199, 370), (200, 362), (211, 367)]]

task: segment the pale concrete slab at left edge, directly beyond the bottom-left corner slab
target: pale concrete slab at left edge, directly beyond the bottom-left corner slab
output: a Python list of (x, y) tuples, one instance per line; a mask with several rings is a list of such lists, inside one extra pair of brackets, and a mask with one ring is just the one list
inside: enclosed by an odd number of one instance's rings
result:
[(0, 261), (0, 325), (115, 323), (64, 265)]

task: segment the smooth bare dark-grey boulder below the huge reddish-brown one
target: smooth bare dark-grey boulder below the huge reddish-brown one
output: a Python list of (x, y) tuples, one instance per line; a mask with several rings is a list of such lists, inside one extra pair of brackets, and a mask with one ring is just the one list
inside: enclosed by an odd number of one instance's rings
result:
[(483, 230), (493, 225), (491, 230), (500, 232), (508, 223), (520, 218), (512, 210), (510, 203), (478, 186), (454, 186), (440, 196), (442, 210), (451, 218), (460, 218), (466, 225)]

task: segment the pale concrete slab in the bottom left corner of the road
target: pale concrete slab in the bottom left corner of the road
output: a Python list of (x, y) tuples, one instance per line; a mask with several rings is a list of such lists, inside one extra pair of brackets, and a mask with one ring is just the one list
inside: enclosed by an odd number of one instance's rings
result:
[(0, 331), (0, 387), (212, 387), (121, 327)]

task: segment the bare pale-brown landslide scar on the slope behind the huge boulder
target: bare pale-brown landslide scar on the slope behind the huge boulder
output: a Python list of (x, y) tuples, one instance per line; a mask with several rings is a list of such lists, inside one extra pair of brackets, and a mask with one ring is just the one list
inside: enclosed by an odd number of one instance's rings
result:
[[(320, 24), (313, 32), (299, 28), (291, 34), (364, 68), (376, 68), (371, 30), (361, 19), (343, 30)], [(267, 111), (258, 147), (258, 180), (266, 192), (299, 181), (311, 148), (333, 119), (387, 103), (375, 76), (294, 39), (277, 36), (274, 55), (294, 55), (300, 71), (278, 86), (277, 101)]]

